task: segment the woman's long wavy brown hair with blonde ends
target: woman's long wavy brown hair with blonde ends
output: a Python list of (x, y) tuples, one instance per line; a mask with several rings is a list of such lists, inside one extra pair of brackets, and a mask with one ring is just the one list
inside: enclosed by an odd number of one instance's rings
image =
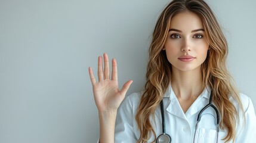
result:
[[(221, 114), (220, 128), (227, 131), (225, 141), (235, 141), (236, 117), (238, 111), (230, 102), (231, 96), (242, 108), (239, 92), (233, 85), (232, 77), (227, 71), (227, 41), (221, 32), (217, 19), (211, 8), (202, 0), (171, 1), (158, 18), (153, 31), (149, 48), (149, 61), (146, 73), (146, 85), (138, 105), (136, 121), (140, 130), (138, 142), (147, 142), (150, 136), (156, 139), (150, 118), (155, 120), (155, 111), (171, 81), (171, 64), (166, 58), (163, 47), (168, 35), (169, 23), (174, 15), (183, 11), (191, 11), (201, 17), (209, 43), (209, 52), (201, 66), (203, 86), (212, 89), (212, 101), (217, 105)], [(224, 116), (225, 114), (225, 116)]]

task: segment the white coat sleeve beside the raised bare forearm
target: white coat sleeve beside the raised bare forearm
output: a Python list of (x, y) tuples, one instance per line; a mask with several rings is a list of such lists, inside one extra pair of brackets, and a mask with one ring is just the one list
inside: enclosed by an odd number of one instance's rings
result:
[(137, 94), (129, 95), (127, 98), (125, 98), (118, 109), (115, 126), (115, 142), (137, 142), (133, 125), (135, 119), (134, 98), (136, 97)]

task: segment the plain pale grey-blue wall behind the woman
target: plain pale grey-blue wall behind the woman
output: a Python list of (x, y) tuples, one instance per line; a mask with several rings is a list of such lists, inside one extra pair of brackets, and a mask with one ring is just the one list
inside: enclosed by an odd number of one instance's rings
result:
[[(0, 0), (0, 142), (96, 142), (88, 67), (107, 52), (119, 85), (143, 89), (147, 51), (166, 0)], [(256, 1), (207, 1), (229, 42), (229, 70), (255, 97)]]

